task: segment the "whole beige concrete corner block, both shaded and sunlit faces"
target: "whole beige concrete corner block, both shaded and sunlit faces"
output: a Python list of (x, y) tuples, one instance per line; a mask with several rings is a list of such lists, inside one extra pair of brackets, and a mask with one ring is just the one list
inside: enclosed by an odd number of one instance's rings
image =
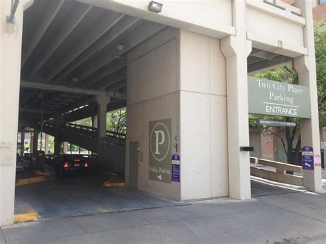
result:
[[(219, 40), (167, 27), (128, 55), (127, 153), (139, 142), (139, 188), (174, 199), (228, 196), (226, 60)], [(149, 180), (149, 122), (172, 118), (180, 184)], [(176, 140), (176, 137), (178, 140)]]

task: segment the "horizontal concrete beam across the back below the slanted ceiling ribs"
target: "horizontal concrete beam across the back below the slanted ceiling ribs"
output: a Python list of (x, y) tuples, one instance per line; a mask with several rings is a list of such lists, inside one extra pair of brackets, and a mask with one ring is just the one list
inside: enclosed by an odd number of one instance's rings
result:
[[(59, 92), (65, 92), (65, 93), (94, 95), (94, 96), (100, 96), (100, 94), (105, 93), (103, 91), (97, 91), (94, 89), (82, 89), (82, 88), (76, 88), (76, 87), (67, 87), (64, 85), (50, 85), (50, 84), (43, 84), (40, 82), (27, 82), (24, 80), (21, 80), (21, 87), (28, 87), (28, 88), (40, 89), (40, 90), (46, 90), (46, 91), (59, 91)], [(116, 93), (116, 92), (107, 93), (107, 95), (110, 96), (111, 98), (120, 98), (120, 99), (126, 98), (126, 96), (124, 94)]]

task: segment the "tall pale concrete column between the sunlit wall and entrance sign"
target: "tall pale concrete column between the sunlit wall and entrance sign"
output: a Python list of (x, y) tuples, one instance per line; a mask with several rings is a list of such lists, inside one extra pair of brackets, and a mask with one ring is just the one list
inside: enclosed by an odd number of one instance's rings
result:
[(240, 146), (249, 146), (247, 57), (251, 42), (246, 38), (246, 1), (232, 1), (232, 23), (237, 36), (221, 40), (226, 57), (229, 188), (230, 197), (250, 199), (250, 154), (240, 151)]

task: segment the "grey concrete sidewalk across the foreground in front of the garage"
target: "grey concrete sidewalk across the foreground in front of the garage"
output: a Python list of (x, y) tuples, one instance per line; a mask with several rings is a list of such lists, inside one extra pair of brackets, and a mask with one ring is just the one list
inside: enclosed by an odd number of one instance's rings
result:
[(326, 243), (326, 194), (92, 214), (2, 228), (0, 243)]

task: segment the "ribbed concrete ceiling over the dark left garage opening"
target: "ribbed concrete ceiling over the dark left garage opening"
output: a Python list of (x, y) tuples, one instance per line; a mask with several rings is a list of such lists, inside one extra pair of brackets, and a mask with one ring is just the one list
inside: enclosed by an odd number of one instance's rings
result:
[(100, 93), (125, 106), (125, 56), (162, 28), (76, 1), (35, 0), (24, 13), (19, 128), (40, 121), (42, 97), (45, 114)]

